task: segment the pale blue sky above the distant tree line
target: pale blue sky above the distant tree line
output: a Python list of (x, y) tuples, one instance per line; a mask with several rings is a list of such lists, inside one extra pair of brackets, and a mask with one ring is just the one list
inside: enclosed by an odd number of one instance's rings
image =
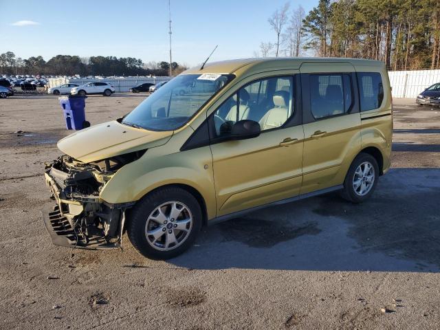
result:
[[(318, 4), (286, 0), (170, 0), (173, 61), (188, 66), (248, 58), (276, 41), (268, 17), (289, 2), (305, 12)], [(117, 56), (169, 61), (168, 1), (0, 0), (0, 54)]]

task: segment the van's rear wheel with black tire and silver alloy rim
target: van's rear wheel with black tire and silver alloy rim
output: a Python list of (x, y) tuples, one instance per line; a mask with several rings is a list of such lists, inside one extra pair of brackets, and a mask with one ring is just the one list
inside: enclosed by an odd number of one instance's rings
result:
[[(366, 173), (365, 171), (368, 170)], [(352, 203), (362, 203), (369, 199), (379, 179), (379, 166), (375, 157), (360, 153), (355, 157), (344, 180), (342, 198)]]

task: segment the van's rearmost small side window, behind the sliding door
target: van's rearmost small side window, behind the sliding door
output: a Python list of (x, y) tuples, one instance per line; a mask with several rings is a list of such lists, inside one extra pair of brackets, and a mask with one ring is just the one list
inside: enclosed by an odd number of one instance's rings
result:
[(384, 100), (382, 77), (377, 72), (358, 72), (360, 111), (380, 108)]

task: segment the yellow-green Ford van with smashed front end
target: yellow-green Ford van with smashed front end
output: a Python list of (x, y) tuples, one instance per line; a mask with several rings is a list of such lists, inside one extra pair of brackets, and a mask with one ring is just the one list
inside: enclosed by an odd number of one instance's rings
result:
[[(189, 69), (123, 118), (58, 142), (47, 164), (56, 245), (152, 259), (190, 247), (203, 225), (333, 190), (368, 199), (390, 167), (383, 63), (265, 58)], [(250, 228), (252, 230), (252, 228)]]

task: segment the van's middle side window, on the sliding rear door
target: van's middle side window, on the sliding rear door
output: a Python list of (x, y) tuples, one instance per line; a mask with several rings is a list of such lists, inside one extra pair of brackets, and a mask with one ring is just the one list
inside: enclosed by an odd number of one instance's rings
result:
[(310, 105), (315, 119), (348, 113), (353, 104), (348, 74), (311, 74)]

